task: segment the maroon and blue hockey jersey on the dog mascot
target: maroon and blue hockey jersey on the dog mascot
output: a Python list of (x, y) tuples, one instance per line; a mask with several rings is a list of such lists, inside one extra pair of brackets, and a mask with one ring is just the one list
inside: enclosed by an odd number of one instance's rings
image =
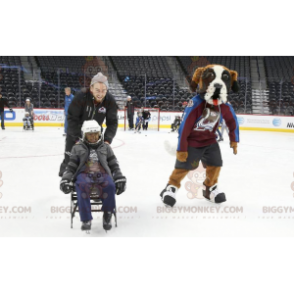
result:
[[(209, 115), (204, 115), (209, 109)], [(220, 113), (221, 111), (221, 113)], [(233, 107), (226, 103), (220, 106), (208, 104), (200, 95), (190, 100), (179, 130), (177, 151), (187, 152), (188, 146), (201, 148), (215, 144), (215, 132), (219, 126), (220, 116), (226, 121), (230, 130), (230, 141), (239, 142), (239, 123)]]

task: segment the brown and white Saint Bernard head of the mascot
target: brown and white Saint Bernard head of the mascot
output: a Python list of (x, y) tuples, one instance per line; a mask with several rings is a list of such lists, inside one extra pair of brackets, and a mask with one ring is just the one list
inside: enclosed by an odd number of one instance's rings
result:
[(237, 80), (236, 71), (222, 65), (208, 65), (196, 70), (191, 86), (196, 89), (199, 85), (200, 94), (204, 94), (207, 103), (217, 106), (227, 103), (231, 89), (235, 93), (239, 91)]

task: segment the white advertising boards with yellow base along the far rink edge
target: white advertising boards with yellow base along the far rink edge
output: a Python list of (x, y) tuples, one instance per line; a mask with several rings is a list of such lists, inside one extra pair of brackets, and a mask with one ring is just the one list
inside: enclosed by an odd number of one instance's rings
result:
[[(11, 113), (8, 109), (4, 112), (5, 125), (22, 126), (25, 115), (24, 109), (14, 109)], [(168, 129), (176, 116), (182, 116), (182, 112), (161, 112), (160, 128)], [(251, 131), (289, 132), (294, 133), (294, 117), (289, 116), (266, 116), (266, 115), (237, 115), (240, 129)], [(63, 127), (64, 111), (59, 109), (36, 109), (35, 126)], [(150, 126), (157, 124), (157, 115), (152, 116)], [(124, 111), (119, 111), (119, 127), (124, 127)]]

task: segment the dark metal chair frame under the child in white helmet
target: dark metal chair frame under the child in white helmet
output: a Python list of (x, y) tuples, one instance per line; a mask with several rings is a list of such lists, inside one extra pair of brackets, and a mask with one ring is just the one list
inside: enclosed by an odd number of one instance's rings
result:
[[(91, 194), (90, 201), (91, 201), (91, 212), (103, 212), (101, 210), (103, 203), (99, 195)], [(93, 209), (93, 206), (98, 206), (98, 209)], [(73, 229), (73, 220), (74, 220), (76, 212), (79, 212), (79, 204), (78, 204), (78, 194), (76, 190), (74, 189), (74, 191), (71, 193), (71, 201), (70, 201), (71, 229)], [(117, 228), (116, 207), (113, 211), (113, 215), (115, 219), (115, 227)]]

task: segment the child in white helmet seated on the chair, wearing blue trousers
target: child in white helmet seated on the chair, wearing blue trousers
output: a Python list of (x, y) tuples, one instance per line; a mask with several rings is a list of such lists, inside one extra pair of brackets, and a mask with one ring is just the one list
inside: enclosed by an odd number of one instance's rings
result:
[(90, 197), (94, 193), (103, 202), (103, 228), (112, 229), (111, 218), (115, 210), (115, 194), (126, 190), (126, 178), (122, 175), (112, 148), (104, 143), (99, 124), (85, 121), (83, 139), (72, 149), (70, 161), (60, 183), (60, 189), (69, 194), (75, 183), (82, 231), (90, 231), (93, 220)]

